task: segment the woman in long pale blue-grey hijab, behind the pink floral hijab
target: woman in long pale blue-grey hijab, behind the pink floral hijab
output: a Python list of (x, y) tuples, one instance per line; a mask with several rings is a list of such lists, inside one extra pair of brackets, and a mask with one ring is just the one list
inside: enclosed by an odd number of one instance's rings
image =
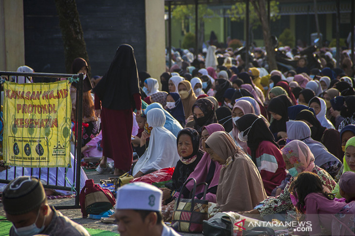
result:
[(314, 163), (334, 178), (342, 167), (340, 160), (329, 153), (323, 144), (311, 138), (311, 129), (303, 121), (288, 121), (286, 125), (288, 140), (300, 140), (307, 144), (315, 158)]

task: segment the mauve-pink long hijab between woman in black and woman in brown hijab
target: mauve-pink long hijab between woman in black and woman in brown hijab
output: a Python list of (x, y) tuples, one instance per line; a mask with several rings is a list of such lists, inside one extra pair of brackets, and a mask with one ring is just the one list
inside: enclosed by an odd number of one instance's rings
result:
[[(203, 128), (207, 129), (207, 132), (210, 135), (213, 134), (214, 132), (217, 132), (217, 131), (224, 131), (224, 127), (217, 124), (217, 123), (214, 123), (214, 124), (211, 124), (208, 126), (204, 126)], [(217, 186), (218, 180), (219, 180), (219, 172), (220, 172), (222, 166), (218, 162), (212, 161), (210, 155), (207, 152), (201, 157), (201, 160), (196, 165), (195, 170), (190, 174), (190, 176), (187, 179), (194, 178), (196, 180), (197, 184), (205, 182), (212, 162), (215, 164), (215, 169), (214, 169), (213, 178), (211, 180), (210, 185), (208, 186), (208, 189), (211, 189), (211, 188)], [(186, 185), (186, 188), (191, 191), (193, 186), (194, 186), (194, 184), (190, 181)], [(198, 186), (196, 189), (196, 195), (203, 192), (203, 190), (204, 190), (204, 186), (202, 186), (202, 185)], [(188, 197), (188, 196), (184, 196), (184, 197)], [(216, 194), (208, 192), (206, 194), (206, 200), (208, 200), (209, 202), (215, 203), (216, 202)]]

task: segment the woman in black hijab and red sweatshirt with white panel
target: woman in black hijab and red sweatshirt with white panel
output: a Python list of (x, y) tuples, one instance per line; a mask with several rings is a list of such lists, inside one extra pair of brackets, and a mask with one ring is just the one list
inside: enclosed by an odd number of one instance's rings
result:
[(247, 142), (248, 154), (258, 167), (266, 193), (270, 195), (286, 176), (279, 145), (260, 116), (243, 115), (236, 121), (236, 127), (239, 130), (238, 139)]

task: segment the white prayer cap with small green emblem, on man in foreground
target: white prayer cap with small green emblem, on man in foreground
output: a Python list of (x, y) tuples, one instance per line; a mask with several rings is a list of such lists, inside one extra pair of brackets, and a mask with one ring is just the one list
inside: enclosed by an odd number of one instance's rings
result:
[(161, 211), (162, 191), (157, 187), (134, 182), (117, 190), (117, 210)]

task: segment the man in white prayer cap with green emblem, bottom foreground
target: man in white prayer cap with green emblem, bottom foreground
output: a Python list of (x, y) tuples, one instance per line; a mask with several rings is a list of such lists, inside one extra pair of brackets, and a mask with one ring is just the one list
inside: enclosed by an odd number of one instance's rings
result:
[(161, 216), (162, 191), (135, 182), (117, 190), (116, 213), (121, 236), (179, 236)]

